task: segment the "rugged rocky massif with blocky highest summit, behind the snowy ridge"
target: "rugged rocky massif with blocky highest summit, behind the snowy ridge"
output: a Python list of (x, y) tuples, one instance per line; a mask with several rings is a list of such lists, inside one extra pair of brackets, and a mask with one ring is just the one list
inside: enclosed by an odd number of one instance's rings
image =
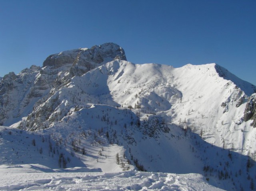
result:
[(17, 75), (5, 75), (0, 81), (0, 125), (20, 121), (72, 77), (114, 59), (126, 59), (124, 49), (115, 43), (104, 43), (50, 55), (43, 67), (32, 66)]

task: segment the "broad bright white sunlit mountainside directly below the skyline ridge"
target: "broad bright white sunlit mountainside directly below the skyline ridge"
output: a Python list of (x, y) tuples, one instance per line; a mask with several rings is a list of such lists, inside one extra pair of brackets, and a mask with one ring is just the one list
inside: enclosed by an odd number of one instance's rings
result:
[[(255, 131), (250, 126), (251, 121), (244, 122), (243, 117), (248, 96), (256, 88), (238, 81), (227, 71), (220, 73), (219, 68), (216, 64), (208, 64), (175, 69), (114, 61), (94, 73), (100, 70), (105, 78), (108, 77), (106, 89), (109, 88), (116, 103), (165, 116), (168, 122), (202, 133), (207, 142), (216, 146), (224, 145), (243, 154), (252, 153), (255, 148), (248, 146), (252, 145)], [(95, 76), (99, 78), (99, 73)], [(247, 131), (250, 131), (249, 139)]]

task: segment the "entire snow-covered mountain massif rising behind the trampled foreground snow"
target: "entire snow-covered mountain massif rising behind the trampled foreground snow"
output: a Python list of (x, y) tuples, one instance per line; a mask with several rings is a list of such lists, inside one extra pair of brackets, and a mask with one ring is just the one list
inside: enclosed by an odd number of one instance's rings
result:
[(199, 173), (254, 189), (255, 93), (216, 64), (138, 65), (114, 43), (63, 51), (0, 81), (0, 164)]

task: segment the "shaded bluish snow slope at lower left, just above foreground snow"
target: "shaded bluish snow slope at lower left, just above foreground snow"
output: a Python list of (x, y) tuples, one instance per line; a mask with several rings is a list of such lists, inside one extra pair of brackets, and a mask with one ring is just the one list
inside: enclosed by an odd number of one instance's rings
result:
[(49, 168), (59, 168), (63, 167), (62, 163), (58, 163), (60, 155), (63, 155), (65, 159), (72, 159), (67, 162), (68, 167), (86, 167), (79, 159), (73, 158), (70, 153), (56, 144), (50, 134), (0, 126), (0, 152), (1, 165), (39, 163)]

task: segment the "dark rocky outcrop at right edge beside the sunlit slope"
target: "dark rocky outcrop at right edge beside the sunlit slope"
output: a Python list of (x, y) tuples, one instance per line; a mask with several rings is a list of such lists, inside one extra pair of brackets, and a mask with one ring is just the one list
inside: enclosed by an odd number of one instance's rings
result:
[(244, 110), (244, 121), (252, 119), (252, 126), (256, 127), (256, 94), (250, 96)]

